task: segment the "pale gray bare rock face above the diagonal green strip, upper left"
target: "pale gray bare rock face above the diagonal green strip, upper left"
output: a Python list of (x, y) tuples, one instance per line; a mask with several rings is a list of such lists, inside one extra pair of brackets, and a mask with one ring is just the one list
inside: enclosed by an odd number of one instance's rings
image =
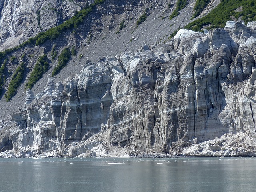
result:
[(0, 50), (17, 46), (39, 32), (61, 24), (81, 10), (86, 2), (1, 0)]

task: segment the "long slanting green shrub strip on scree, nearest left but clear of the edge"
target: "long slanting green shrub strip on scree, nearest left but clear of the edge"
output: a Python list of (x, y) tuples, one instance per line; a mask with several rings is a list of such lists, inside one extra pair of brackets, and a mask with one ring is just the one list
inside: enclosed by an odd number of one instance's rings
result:
[(16, 68), (14, 74), (12, 75), (8, 90), (4, 94), (4, 97), (6, 98), (7, 102), (10, 101), (16, 95), (16, 92), (19, 86), (21, 85), (22, 80), (24, 79), (25, 68), (25, 63), (21, 62), (20, 66)]

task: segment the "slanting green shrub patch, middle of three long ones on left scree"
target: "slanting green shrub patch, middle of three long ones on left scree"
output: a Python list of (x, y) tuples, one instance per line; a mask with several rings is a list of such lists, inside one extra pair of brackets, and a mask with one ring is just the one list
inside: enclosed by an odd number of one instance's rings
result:
[(43, 75), (48, 71), (49, 68), (50, 65), (48, 63), (48, 58), (46, 54), (40, 56), (40, 58), (37, 60), (34, 66), (34, 70), (30, 74), (28, 82), (25, 85), (26, 88), (31, 89), (34, 86), (34, 84), (36, 84), (36, 82), (43, 77)]

